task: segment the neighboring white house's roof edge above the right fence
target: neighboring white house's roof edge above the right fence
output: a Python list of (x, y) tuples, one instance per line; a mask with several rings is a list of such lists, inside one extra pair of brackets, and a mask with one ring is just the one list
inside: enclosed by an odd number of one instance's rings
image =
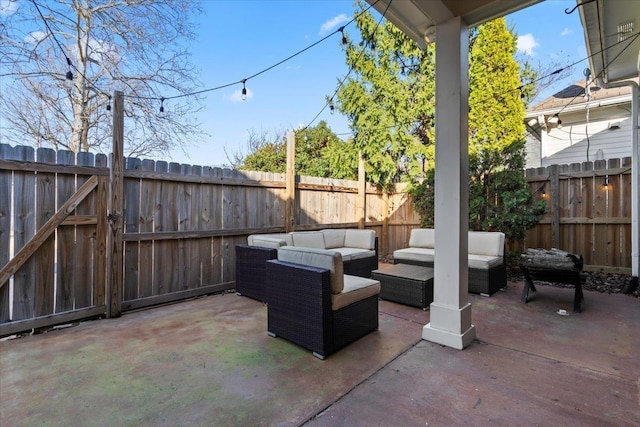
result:
[[(554, 114), (561, 110), (568, 112), (584, 109), (587, 103), (587, 99), (584, 96), (586, 84), (586, 80), (582, 79), (554, 93), (547, 99), (529, 108), (526, 112), (526, 117), (536, 117), (540, 114)], [(617, 104), (631, 101), (630, 86), (604, 89), (598, 87), (595, 82), (592, 82), (590, 90), (591, 99), (589, 100), (589, 106), (591, 108), (603, 104)]]

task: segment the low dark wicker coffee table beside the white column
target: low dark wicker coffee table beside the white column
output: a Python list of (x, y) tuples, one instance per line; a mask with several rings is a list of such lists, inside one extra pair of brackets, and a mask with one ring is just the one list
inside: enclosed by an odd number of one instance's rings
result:
[(433, 268), (395, 264), (373, 270), (371, 278), (380, 282), (380, 298), (400, 304), (429, 308), (433, 302)]

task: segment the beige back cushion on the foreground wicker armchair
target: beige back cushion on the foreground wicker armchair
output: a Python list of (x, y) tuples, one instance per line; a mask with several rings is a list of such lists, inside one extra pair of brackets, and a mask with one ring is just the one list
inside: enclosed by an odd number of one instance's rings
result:
[(331, 272), (331, 293), (339, 294), (344, 289), (344, 269), (340, 252), (283, 246), (278, 249), (278, 260), (329, 270)]

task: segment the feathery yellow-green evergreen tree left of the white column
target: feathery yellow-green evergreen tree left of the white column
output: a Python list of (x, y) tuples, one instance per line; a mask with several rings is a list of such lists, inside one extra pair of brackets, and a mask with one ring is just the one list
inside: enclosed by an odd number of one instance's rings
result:
[(362, 152), (367, 181), (390, 188), (422, 176), (433, 158), (434, 56), (431, 47), (422, 51), (392, 23), (378, 25), (365, 8), (356, 2), (362, 41), (347, 43), (351, 72), (336, 107), (355, 134), (350, 159), (357, 161), (354, 153)]

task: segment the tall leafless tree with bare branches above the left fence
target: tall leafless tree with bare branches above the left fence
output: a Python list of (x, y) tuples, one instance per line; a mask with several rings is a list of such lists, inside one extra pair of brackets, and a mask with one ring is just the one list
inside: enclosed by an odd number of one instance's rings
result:
[(127, 155), (167, 153), (203, 135), (196, 96), (172, 99), (158, 114), (165, 94), (199, 87), (182, 47), (194, 38), (190, 19), (201, 12), (199, 0), (36, 3), (46, 23), (28, 1), (0, 15), (3, 142), (109, 152), (106, 107), (115, 90), (125, 93)]

